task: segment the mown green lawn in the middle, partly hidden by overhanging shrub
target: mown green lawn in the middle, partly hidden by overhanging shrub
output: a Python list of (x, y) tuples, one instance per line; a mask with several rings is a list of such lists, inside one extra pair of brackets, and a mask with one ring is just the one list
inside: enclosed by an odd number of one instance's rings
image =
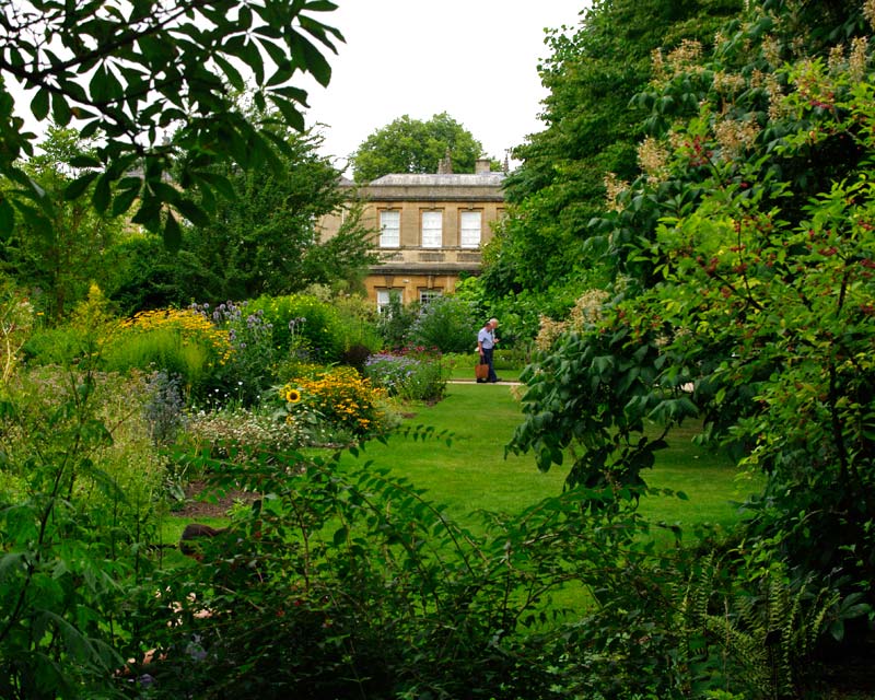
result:
[[(389, 467), (427, 489), (432, 501), (446, 506), (447, 515), (472, 530), (477, 518), (471, 514), (478, 510), (516, 513), (561, 492), (567, 467), (553, 466), (544, 474), (530, 454), (505, 457), (504, 446), (522, 421), (510, 386), (451, 384), (442, 401), (413, 410), (416, 416), (406, 424), (447, 431), (452, 443), (394, 436), (386, 445), (369, 444), (359, 458)], [(642, 512), (657, 522), (728, 527), (738, 518), (733, 502), (756, 488), (748, 485), (745, 490), (726, 457), (693, 445), (695, 432), (693, 427), (680, 430), (644, 475), (651, 486), (684, 491), (689, 500), (651, 498), (642, 503)]]

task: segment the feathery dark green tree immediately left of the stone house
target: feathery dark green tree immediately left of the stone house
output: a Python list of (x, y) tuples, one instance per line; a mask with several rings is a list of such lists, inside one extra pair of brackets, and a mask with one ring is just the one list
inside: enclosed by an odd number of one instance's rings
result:
[[(271, 147), (279, 168), (214, 168), (234, 197), (218, 201), (215, 217), (184, 232), (203, 270), (198, 299), (246, 300), (299, 292), (312, 283), (354, 280), (369, 262), (372, 232), (351, 208), (337, 236), (318, 240), (318, 220), (346, 205), (339, 173), (317, 153), (319, 139), (276, 129)], [(281, 144), (281, 145), (280, 145)]]

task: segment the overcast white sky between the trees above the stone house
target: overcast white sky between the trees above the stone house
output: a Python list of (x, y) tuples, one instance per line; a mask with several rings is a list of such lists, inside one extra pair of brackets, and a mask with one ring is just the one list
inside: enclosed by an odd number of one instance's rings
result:
[[(544, 129), (538, 78), (545, 27), (573, 27), (585, 0), (335, 0), (320, 16), (343, 34), (327, 89), (307, 85), (307, 124), (322, 122), (323, 152), (347, 156), (371, 133), (409, 115), (446, 112), (504, 159)], [(436, 166), (436, 164), (435, 164)]]

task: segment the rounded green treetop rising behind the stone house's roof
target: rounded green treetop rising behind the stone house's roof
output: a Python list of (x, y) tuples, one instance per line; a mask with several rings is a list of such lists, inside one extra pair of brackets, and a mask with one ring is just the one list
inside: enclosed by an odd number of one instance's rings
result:
[(450, 154), (455, 173), (472, 173), (483, 147), (447, 113), (428, 121), (404, 115), (369, 136), (352, 154), (357, 183), (389, 173), (434, 173)]

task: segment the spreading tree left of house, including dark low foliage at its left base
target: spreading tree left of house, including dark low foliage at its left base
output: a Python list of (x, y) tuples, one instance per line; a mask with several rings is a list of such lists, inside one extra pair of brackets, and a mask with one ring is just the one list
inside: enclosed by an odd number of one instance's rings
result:
[[(215, 166), (233, 197), (215, 202), (214, 217), (184, 228), (177, 254), (161, 252), (152, 236), (126, 242), (118, 252), (126, 273), (113, 299), (130, 310), (289, 294), (312, 283), (349, 285), (376, 261), (373, 232), (361, 225), (361, 208), (347, 201), (340, 174), (318, 154), (319, 138), (291, 128), (271, 133), (280, 168)], [(340, 231), (320, 241), (319, 219), (341, 207)]]

